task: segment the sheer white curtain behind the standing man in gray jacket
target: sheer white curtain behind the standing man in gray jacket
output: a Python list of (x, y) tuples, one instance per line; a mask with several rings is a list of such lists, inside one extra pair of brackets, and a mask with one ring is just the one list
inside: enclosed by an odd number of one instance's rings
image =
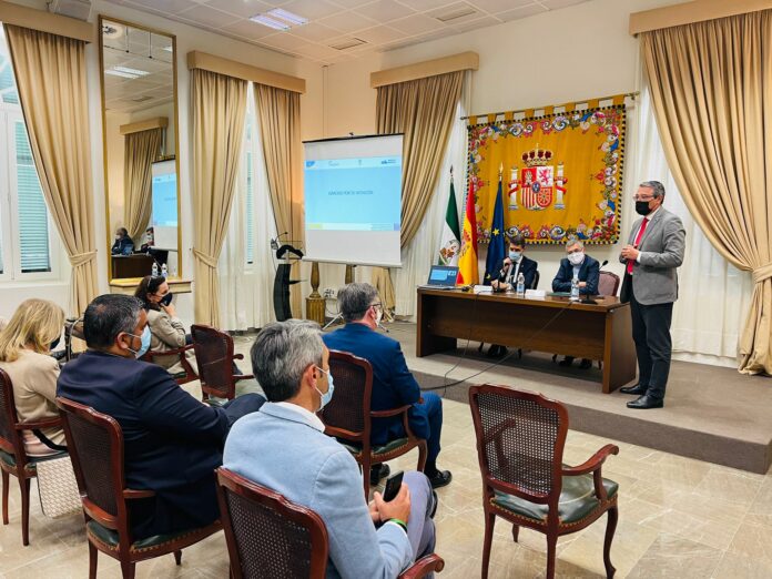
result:
[[(687, 209), (683, 195), (668, 169), (668, 160), (657, 131), (651, 96), (644, 87), (634, 105), (636, 136), (630, 145), (633, 186), (656, 179), (664, 185), (666, 207), (676, 213), (687, 230), (687, 252), (678, 270), (680, 298), (673, 308), (671, 334), (673, 357), (687, 362), (737, 367), (738, 341), (743, 312), (753, 291), (751, 275), (730, 264), (711, 245)], [(630, 211), (631, 205), (628, 206)], [(634, 216), (624, 215), (626, 223)], [(699, 296), (690, 299), (689, 296)], [(705, 312), (710, 312), (707, 316)]]

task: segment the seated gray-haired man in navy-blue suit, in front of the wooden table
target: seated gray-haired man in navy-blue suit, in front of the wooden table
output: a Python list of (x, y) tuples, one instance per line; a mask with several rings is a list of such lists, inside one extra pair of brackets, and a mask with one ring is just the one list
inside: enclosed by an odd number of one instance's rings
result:
[[(428, 457), (426, 476), (434, 488), (444, 487), (453, 476), (448, 470), (437, 469), (439, 436), (443, 429), (443, 400), (434, 393), (425, 393), (420, 398), (420, 387), (407, 369), (405, 355), (399, 342), (378, 334), (383, 306), (378, 303), (378, 292), (370, 284), (348, 284), (338, 292), (338, 309), (346, 325), (323, 336), (329, 349), (349, 352), (365, 358), (373, 366), (373, 410), (389, 410), (412, 404), (409, 424), (413, 433), (426, 439)], [(389, 440), (405, 436), (402, 417), (373, 419), (370, 441), (385, 445)], [(388, 467), (374, 467), (370, 480), (374, 484), (388, 475)]]

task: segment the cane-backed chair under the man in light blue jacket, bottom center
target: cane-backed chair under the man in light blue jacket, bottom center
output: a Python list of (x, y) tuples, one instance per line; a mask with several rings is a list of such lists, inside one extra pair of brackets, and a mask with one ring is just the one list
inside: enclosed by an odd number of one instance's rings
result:
[[(316, 512), (226, 468), (216, 473), (233, 579), (324, 579), (327, 529)], [(444, 567), (445, 561), (431, 553), (399, 578), (417, 579)]]

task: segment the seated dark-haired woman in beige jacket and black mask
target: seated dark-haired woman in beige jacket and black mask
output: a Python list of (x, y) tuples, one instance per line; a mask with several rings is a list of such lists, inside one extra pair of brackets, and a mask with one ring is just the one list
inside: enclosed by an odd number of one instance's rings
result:
[[(190, 336), (185, 333), (185, 326), (176, 316), (176, 308), (172, 304), (172, 292), (165, 277), (162, 275), (144, 276), (134, 292), (134, 297), (142, 301), (148, 312), (150, 349), (166, 352), (191, 343)], [(195, 369), (193, 352), (189, 352), (186, 357)], [(184, 372), (179, 356), (156, 356), (153, 362), (166, 368), (170, 374)]]

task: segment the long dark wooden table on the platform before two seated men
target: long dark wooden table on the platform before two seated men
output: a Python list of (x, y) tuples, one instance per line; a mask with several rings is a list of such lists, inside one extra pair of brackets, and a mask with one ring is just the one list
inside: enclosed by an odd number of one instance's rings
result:
[(630, 305), (618, 297), (596, 299), (419, 288), (416, 356), (454, 349), (460, 338), (598, 359), (608, 394), (636, 378)]

